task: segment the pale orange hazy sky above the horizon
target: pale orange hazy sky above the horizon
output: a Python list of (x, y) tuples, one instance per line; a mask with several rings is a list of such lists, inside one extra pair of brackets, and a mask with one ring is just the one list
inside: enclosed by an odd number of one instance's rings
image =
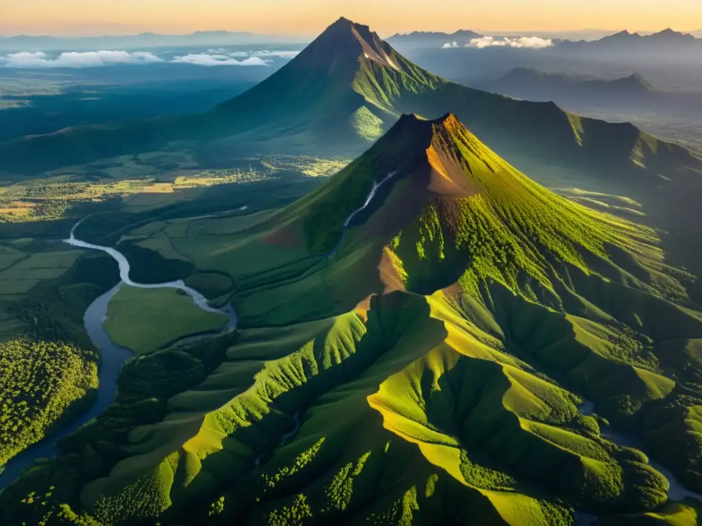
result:
[(702, 29), (702, 0), (0, 0), (0, 34), (317, 34), (339, 16), (381, 35), (581, 28)]

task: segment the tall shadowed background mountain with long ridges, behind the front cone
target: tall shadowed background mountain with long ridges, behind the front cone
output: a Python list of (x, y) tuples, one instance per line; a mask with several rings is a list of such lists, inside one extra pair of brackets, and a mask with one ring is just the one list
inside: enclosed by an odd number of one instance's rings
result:
[(586, 119), (555, 104), (446, 81), (344, 18), (265, 81), (211, 112), (25, 137), (0, 144), (0, 157), (8, 172), (36, 174), (184, 140), (200, 142), (197, 153), (204, 163), (252, 152), (355, 156), (400, 114), (446, 112), (510, 160), (665, 173), (702, 163), (630, 124)]

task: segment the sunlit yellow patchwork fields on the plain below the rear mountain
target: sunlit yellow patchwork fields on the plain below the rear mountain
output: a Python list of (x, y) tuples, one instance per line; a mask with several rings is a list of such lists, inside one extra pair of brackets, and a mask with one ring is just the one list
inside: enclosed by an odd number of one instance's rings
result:
[(346, 159), (306, 156), (232, 160), (232, 168), (198, 169), (192, 157), (179, 152), (120, 156), (44, 174), (13, 183), (0, 178), (0, 222), (51, 220), (72, 215), (81, 203), (116, 200), (124, 213), (138, 214), (196, 201), (203, 190), (282, 178), (326, 177), (343, 168)]

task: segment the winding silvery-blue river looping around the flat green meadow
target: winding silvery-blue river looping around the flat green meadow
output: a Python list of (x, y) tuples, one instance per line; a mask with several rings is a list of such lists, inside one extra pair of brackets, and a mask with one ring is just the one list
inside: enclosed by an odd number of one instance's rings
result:
[(102, 324), (105, 323), (105, 320), (107, 320), (107, 304), (117, 293), (122, 283), (126, 283), (126, 285), (137, 288), (177, 288), (190, 296), (194, 304), (199, 306), (204, 311), (225, 313), (227, 315), (229, 321), (223, 329), (208, 332), (202, 335), (183, 337), (177, 342), (171, 344), (171, 346), (178, 344), (190, 344), (199, 339), (223, 334), (224, 332), (234, 330), (237, 327), (237, 315), (231, 304), (228, 304), (223, 309), (214, 309), (208, 304), (207, 298), (204, 297), (204, 295), (201, 295), (200, 292), (197, 292), (197, 290), (185, 285), (183, 280), (150, 284), (135, 283), (134, 281), (131, 281), (129, 278), (129, 262), (127, 261), (126, 257), (124, 257), (121, 252), (118, 252), (114, 248), (93, 245), (77, 239), (75, 236), (75, 230), (78, 224), (80, 224), (80, 222), (73, 227), (70, 237), (64, 240), (65, 243), (68, 243), (74, 247), (107, 252), (107, 254), (112, 256), (112, 258), (117, 261), (117, 264), (119, 265), (119, 278), (121, 279), (121, 281), (117, 283), (112, 290), (105, 292), (105, 294), (95, 299), (90, 306), (88, 306), (83, 318), (86, 332), (88, 333), (88, 336), (93, 342), (95, 348), (100, 352), (100, 384), (98, 386), (98, 396), (90, 410), (86, 411), (84, 414), (81, 414), (79, 417), (76, 417), (65, 426), (62, 426), (55, 433), (51, 433), (51, 435), (44, 438), (44, 440), (40, 440), (36, 444), (27, 447), (26, 450), (10, 459), (10, 461), (5, 464), (4, 470), (0, 471), (0, 491), (12, 483), (12, 481), (15, 480), (20, 473), (22, 473), (22, 470), (31, 467), (35, 460), (54, 457), (55, 454), (57, 454), (55, 444), (58, 440), (60, 440), (60, 438), (64, 438), (65, 436), (74, 433), (81, 428), (81, 426), (84, 426), (84, 424), (90, 422), (95, 417), (98, 417), (112, 403), (112, 400), (114, 400), (114, 395), (117, 393), (117, 377), (119, 376), (119, 371), (121, 370), (122, 364), (125, 362), (125, 360), (131, 358), (133, 353), (126, 347), (119, 346), (112, 342), (110, 335), (108, 335), (107, 331), (102, 328)]

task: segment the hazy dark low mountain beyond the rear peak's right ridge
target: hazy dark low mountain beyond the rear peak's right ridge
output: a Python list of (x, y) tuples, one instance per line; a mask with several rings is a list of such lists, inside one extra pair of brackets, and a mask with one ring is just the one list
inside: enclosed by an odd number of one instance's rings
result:
[(640, 74), (605, 81), (591, 77), (538, 72), (515, 68), (505, 76), (477, 86), (481, 89), (531, 100), (559, 100), (563, 97), (639, 97), (654, 92)]

